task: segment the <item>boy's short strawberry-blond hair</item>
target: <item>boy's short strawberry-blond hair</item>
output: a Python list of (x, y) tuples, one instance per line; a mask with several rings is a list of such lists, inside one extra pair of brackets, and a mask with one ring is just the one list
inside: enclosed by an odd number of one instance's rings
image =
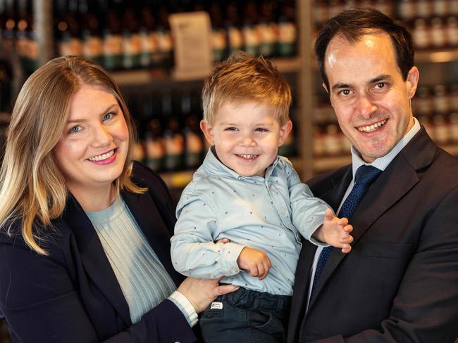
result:
[(218, 63), (206, 77), (202, 90), (204, 120), (213, 124), (216, 111), (227, 101), (272, 105), (283, 127), (289, 119), (291, 89), (271, 61), (239, 51)]

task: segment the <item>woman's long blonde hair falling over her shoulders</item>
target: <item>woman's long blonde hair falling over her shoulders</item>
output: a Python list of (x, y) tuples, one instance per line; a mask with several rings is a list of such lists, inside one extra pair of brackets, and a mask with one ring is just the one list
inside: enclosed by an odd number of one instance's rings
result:
[(11, 234), (11, 224), (22, 222), (27, 245), (39, 254), (39, 228), (63, 213), (68, 196), (66, 181), (53, 150), (60, 140), (70, 98), (83, 85), (99, 86), (115, 96), (129, 131), (129, 148), (116, 191), (142, 193), (130, 179), (135, 127), (119, 87), (106, 70), (74, 56), (50, 60), (36, 70), (18, 94), (11, 114), (4, 161), (0, 170), (0, 224)]

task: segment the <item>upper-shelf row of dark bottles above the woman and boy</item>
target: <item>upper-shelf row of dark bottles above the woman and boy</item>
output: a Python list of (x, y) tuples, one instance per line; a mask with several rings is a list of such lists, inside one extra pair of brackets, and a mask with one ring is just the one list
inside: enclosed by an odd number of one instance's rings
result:
[[(0, 36), (16, 48), (23, 68), (37, 68), (32, 0), (0, 0)], [(245, 50), (254, 56), (294, 56), (294, 0), (159, 1), (53, 0), (57, 55), (85, 56), (108, 70), (173, 65), (171, 13), (206, 11), (212, 25), (214, 60)]]

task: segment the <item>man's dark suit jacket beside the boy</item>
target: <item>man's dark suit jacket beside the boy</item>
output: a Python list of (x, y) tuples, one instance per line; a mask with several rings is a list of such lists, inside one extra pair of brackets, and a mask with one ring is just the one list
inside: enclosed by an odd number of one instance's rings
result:
[[(309, 182), (338, 209), (352, 166)], [(306, 313), (316, 247), (297, 264), (288, 342), (453, 342), (458, 336), (458, 161), (421, 128), (371, 185)], [(345, 338), (344, 338), (345, 337)]]

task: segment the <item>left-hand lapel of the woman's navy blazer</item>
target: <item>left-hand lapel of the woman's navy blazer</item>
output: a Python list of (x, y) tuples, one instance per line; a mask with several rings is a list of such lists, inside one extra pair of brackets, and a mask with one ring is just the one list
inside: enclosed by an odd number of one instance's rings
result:
[(125, 300), (113, 268), (111, 268), (111, 264), (106, 257), (99, 236), (78, 201), (73, 198), (73, 195), (68, 197), (63, 220), (72, 228), (75, 234), (82, 265), (87, 275), (118, 311), (125, 324), (132, 325), (128, 303)]

